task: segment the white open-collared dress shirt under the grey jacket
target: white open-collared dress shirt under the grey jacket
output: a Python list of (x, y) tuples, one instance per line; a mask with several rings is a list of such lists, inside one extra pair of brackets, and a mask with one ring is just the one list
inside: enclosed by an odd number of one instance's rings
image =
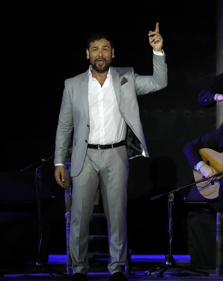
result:
[(118, 102), (114, 92), (111, 72), (101, 86), (92, 77), (89, 68), (88, 104), (90, 133), (89, 144), (109, 145), (124, 141), (126, 123), (120, 114)]

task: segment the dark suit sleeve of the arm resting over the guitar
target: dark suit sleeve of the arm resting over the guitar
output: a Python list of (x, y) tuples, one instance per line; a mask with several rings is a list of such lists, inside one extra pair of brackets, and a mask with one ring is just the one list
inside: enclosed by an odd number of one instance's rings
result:
[(211, 148), (216, 151), (221, 151), (223, 149), (223, 123), (216, 131), (201, 136), (194, 141), (190, 141), (184, 146), (184, 155), (192, 169), (194, 169), (194, 166), (198, 162), (202, 161), (198, 151), (201, 148)]

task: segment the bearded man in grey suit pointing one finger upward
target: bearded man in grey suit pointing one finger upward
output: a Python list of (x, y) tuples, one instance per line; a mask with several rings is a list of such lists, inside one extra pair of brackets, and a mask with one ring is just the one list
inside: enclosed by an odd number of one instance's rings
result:
[(65, 157), (74, 130), (70, 165), (72, 280), (87, 280), (89, 223), (98, 186), (108, 223), (110, 280), (125, 280), (122, 266), (127, 254), (128, 160), (140, 155), (148, 157), (137, 95), (167, 86), (167, 66), (158, 23), (148, 36), (153, 47), (153, 76), (140, 76), (132, 67), (111, 67), (113, 43), (105, 34), (97, 33), (87, 42), (89, 69), (65, 80), (54, 163), (56, 181), (64, 187)]

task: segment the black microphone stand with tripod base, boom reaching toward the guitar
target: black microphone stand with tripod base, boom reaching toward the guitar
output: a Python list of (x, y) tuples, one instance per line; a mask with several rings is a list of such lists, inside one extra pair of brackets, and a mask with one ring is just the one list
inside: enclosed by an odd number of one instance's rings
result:
[[(191, 185), (195, 185), (195, 184), (200, 183), (202, 181), (209, 180), (209, 179), (214, 178), (214, 177), (218, 177), (220, 175), (223, 175), (223, 171), (220, 172), (220, 173), (217, 173), (215, 175), (212, 175), (210, 177), (203, 177), (201, 180), (197, 180), (197, 181), (195, 181), (194, 183), (192, 183), (190, 185), (181, 186), (181, 187), (179, 187), (179, 188), (177, 188), (175, 190), (166, 192), (164, 194), (159, 194), (159, 195), (156, 195), (156, 196), (150, 198), (151, 200), (156, 200), (156, 199), (162, 197), (163, 195), (167, 195), (168, 196), (168, 205), (169, 205), (169, 229), (168, 229), (168, 233), (169, 233), (169, 249), (168, 249), (168, 255), (164, 256), (164, 258), (166, 260), (165, 265), (161, 266), (161, 267), (157, 267), (157, 268), (153, 268), (153, 269), (147, 270), (147, 271), (144, 272), (144, 274), (146, 274), (146, 275), (149, 274), (150, 275), (155, 270), (162, 269), (162, 271), (160, 271), (156, 275), (156, 277), (163, 277), (163, 273), (167, 269), (169, 269), (169, 268), (179, 268), (179, 269), (185, 269), (185, 270), (191, 271), (191, 272), (196, 272), (200, 276), (208, 276), (209, 275), (208, 272), (199, 271), (199, 270), (196, 270), (196, 269), (191, 268), (191, 267), (186, 267), (186, 266), (181, 266), (181, 265), (177, 265), (176, 264), (176, 261), (175, 261), (174, 257), (172, 256), (172, 234), (173, 234), (173, 227), (172, 227), (172, 205), (173, 205), (174, 193), (176, 193), (178, 190), (183, 189), (183, 188), (188, 187), (188, 186), (191, 186)], [(211, 181), (210, 181), (210, 183), (211, 183)]]

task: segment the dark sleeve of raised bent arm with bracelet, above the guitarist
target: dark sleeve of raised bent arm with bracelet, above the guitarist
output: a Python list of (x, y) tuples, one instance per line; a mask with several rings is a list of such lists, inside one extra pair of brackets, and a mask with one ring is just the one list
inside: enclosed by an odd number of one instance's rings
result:
[(214, 96), (217, 93), (223, 93), (223, 73), (214, 77), (211, 80), (210, 84), (206, 88), (201, 90), (201, 92), (197, 96), (197, 100), (203, 107), (214, 106), (216, 104)]

